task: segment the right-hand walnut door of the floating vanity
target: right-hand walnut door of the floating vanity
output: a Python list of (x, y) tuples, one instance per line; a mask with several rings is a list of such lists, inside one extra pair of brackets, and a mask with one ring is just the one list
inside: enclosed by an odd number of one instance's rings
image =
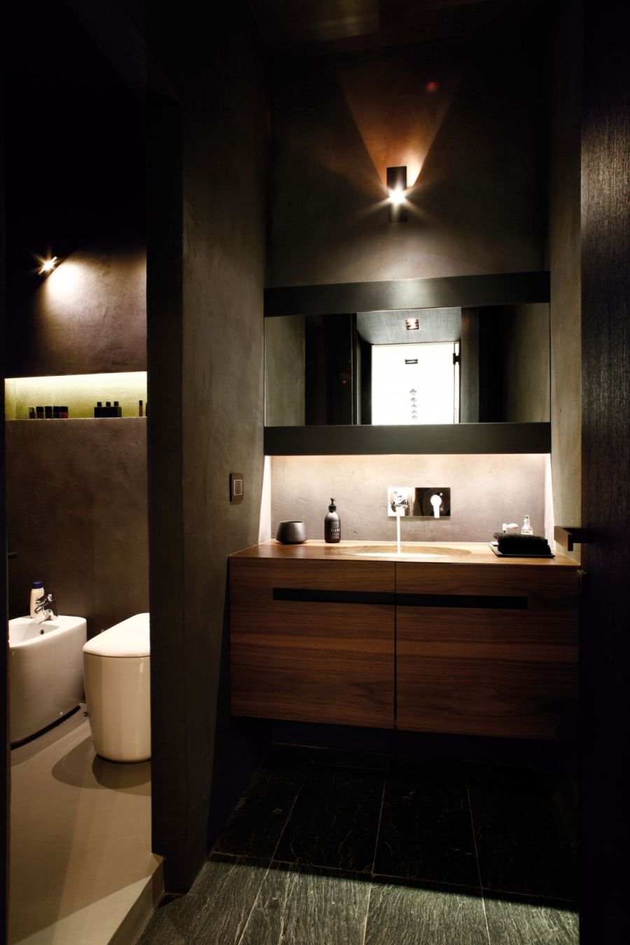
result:
[(400, 563), (397, 604), (399, 729), (574, 737), (573, 569)]

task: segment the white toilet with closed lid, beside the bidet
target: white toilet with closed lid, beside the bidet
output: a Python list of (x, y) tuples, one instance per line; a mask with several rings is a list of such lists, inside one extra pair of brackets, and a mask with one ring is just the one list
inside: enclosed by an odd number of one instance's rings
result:
[(94, 749), (111, 762), (151, 757), (149, 615), (136, 613), (83, 647)]

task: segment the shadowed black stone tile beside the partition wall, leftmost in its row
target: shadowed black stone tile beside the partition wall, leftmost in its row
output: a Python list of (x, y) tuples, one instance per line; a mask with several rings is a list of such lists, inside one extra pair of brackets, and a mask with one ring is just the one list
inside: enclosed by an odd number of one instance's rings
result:
[(214, 851), (271, 859), (310, 762), (310, 749), (272, 746), (232, 811)]

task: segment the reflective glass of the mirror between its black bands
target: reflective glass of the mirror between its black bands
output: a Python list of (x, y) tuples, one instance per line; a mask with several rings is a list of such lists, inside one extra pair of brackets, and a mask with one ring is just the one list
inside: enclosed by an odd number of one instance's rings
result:
[(547, 302), (264, 319), (265, 424), (545, 422)]

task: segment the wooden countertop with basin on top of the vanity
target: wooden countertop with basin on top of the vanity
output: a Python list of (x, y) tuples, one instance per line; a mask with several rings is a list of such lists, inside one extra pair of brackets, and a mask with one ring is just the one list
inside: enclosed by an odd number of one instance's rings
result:
[[(281, 544), (269, 539), (253, 544), (230, 558), (272, 558), (274, 560), (342, 560), (342, 561), (405, 561), (416, 564), (518, 564), (537, 568), (579, 568), (572, 558), (555, 552), (555, 558), (498, 558), (485, 541), (403, 541), (400, 558), (389, 557), (396, 552), (396, 541), (304, 541), (302, 544)], [(431, 555), (418, 560), (410, 556)]]

